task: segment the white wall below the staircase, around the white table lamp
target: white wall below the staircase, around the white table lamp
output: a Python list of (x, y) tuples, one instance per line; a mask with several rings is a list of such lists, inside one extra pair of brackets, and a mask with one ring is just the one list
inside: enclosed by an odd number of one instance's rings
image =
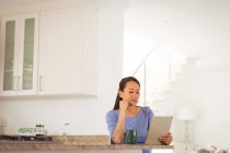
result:
[[(230, 130), (229, 78), (230, 63), (210, 69), (197, 61), (193, 69), (181, 74), (168, 97), (168, 103), (172, 103), (174, 110), (180, 106), (196, 109), (197, 119), (189, 122), (189, 133), (191, 139), (203, 148), (208, 148), (209, 144), (222, 149), (230, 146), (227, 134)], [(175, 140), (182, 141), (184, 125), (180, 120), (174, 121)]]

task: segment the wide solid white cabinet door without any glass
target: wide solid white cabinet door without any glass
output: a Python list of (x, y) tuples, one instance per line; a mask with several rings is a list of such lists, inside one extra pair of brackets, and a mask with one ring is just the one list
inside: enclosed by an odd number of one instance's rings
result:
[(80, 93), (82, 51), (82, 8), (42, 12), (38, 94)]

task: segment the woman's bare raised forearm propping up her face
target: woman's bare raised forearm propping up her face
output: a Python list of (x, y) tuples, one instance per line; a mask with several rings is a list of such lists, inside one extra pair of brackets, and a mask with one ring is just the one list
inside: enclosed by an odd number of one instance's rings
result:
[(119, 144), (123, 142), (124, 133), (125, 133), (125, 116), (126, 116), (126, 111), (120, 110), (119, 116), (118, 116), (118, 121), (114, 130), (114, 143)]

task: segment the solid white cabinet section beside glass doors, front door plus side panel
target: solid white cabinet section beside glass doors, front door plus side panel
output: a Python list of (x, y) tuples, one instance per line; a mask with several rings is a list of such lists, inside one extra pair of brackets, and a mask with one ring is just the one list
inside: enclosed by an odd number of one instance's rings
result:
[(96, 10), (41, 12), (38, 94), (96, 94)]

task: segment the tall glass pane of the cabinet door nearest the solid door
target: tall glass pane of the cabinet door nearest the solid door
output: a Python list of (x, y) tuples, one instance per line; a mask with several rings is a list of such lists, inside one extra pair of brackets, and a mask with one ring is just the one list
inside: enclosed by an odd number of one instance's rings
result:
[(34, 26), (35, 19), (25, 20), (22, 84), (23, 90), (32, 90), (33, 87)]

